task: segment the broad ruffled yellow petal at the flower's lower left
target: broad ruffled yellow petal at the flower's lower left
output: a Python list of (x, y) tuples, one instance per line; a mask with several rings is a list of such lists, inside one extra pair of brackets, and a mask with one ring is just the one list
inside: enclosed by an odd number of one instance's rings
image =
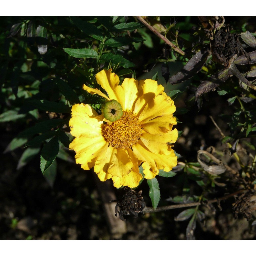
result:
[(93, 139), (80, 137), (74, 138), (69, 144), (69, 149), (76, 152), (76, 163), (81, 164), (84, 170), (89, 170), (94, 166), (97, 158), (107, 150), (108, 144), (102, 136)]

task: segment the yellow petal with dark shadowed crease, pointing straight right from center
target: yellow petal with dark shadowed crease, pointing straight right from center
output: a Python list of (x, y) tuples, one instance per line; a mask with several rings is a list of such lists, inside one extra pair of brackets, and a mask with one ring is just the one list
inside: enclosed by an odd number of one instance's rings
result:
[(172, 130), (173, 125), (177, 124), (173, 115), (158, 116), (152, 120), (144, 120), (141, 127), (144, 131), (151, 134), (166, 133)]

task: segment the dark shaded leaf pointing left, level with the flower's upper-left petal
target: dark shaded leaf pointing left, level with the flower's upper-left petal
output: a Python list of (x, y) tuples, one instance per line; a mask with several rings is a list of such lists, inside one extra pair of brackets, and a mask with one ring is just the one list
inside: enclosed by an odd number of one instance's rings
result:
[(35, 106), (37, 109), (55, 112), (55, 113), (70, 113), (71, 108), (68, 105), (48, 100), (28, 100), (29, 104)]

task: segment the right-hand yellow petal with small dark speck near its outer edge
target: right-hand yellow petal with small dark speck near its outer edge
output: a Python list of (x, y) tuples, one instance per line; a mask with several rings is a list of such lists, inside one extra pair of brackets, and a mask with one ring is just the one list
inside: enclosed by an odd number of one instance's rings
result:
[(143, 132), (140, 136), (143, 144), (154, 154), (169, 155), (173, 152), (171, 145), (177, 140), (178, 131), (174, 129), (167, 133), (150, 134)]

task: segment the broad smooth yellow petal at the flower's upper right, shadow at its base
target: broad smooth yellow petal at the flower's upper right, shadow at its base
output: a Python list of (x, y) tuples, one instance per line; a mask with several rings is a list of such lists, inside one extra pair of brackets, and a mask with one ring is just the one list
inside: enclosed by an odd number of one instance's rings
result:
[(138, 116), (138, 119), (144, 123), (149, 120), (154, 120), (159, 116), (172, 116), (175, 109), (176, 107), (174, 102), (170, 99), (170, 97), (168, 99), (164, 95), (158, 95), (148, 102)]

